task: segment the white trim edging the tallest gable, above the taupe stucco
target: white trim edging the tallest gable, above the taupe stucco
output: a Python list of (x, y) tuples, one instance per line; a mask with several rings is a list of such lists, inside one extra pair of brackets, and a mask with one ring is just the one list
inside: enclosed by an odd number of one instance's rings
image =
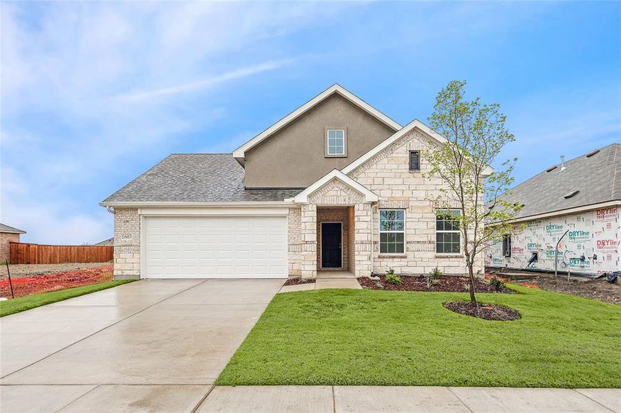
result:
[(294, 112), (291, 112), (290, 114), (288, 114), (281, 120), (278, 120), (278, 122), (274, 123), (274, 125), (265, 129), (263, 132), (261, 132), (261, 134), (258, 134), (257, 136), (249, 140), (248, 142), (245, 142), (245, 144), (241, 145), (241, 147), (238, 147), (237, 149), (235, 149), (233, 151), (233, 157), (238, 162), (240, 162), (241, 165), (243, 165), (246, 151), (249, 151), (252, 147), (263, 142), (263, 140), (269, 138), (269, 136), (272, 136), (272, 134), (276, 133), (276, 131), (283, 129), (283, 127), (285, 127), (286, 125), (289, 125), (289, 123), (292, 123), (298, 117), (302, 116), (303, 114), (308, 112), (310, 109), (312, 109), (313, 107), (321, 103), (323, 100), (329, 98), (330, 96), (334, 94), (338, 94), (339, 96), (342, 96), (343, 98), (349, 100), (349, 102), (360, 107), (360, 109), (365, 110), (366, 112), (371, 114), (371, 116), (374, 116), (374, 118), (385, 123), (385, 125), (393, 129), (394, 131), (398, 131), (399, 129), (401, 129), (401, 125), (396, 123), (394, 120), (392, 120), (391, 118), (389, 118), (382, 112), (378, 111), (378, 109), (375, 109), (374, 107), (366, 103), (364, 100), (358, 98), (358, 96), (354, 95), (352, 92), (349, 92), (349, 90), (345, 89), (345, 87), (334, 84), (328, 87), (327, 89), (325, 89), (323, 92), (321, 92), (314, 98), (312, 98), (311, 100), (309, 100), (307, 103), (305, 103), (301, 107), (298, 107), (298, 109), (294, 110)]

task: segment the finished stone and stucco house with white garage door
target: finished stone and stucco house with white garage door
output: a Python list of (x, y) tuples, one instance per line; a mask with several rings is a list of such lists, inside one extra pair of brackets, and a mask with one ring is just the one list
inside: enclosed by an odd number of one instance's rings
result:
[(233, 153), (172, 154), (101, 202), (115, 275), (465, 274), (443, 182), (423, 175), (444, 141), (333, 85)]

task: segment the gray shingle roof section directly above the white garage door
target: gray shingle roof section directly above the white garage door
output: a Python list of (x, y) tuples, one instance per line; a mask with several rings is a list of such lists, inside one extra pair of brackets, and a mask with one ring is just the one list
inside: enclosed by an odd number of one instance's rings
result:
[(232, 153), (174, 153), (119, 189), (111, 202), (269, 202), (301, 189), (244, 188), (244, 169)]

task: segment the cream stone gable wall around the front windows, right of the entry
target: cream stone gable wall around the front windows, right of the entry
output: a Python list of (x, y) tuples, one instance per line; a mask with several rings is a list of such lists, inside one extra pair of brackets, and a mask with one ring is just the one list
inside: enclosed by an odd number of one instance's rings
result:
[[(372, 210), (371, 233), (373, 237), (373, 272), (385, 273), (387, 268), (394, 268), (396, 273), (423, 274), (438, 266), (447, 275), (464, 275), (467, 273), (462, 255), (436, 254), (436, 213), (438, 205), (434, 199), (440, 195), (444, 182), (440, 178), (424, 176), (431, 169), (425, 162), (425, 150), (430, 147), (429, 139), (419, 131), (411, 131), (394, 142), (374, 158), (355, 169), (349, 176), (379, 195), (378, 204)], [(409, 151), (421, 151), (421, 171), (409, 171)], [(456, 207), (457, 205), (455, 205)], [(379, 209), (405, 209), (405, 254), (380, 255), (379, 253)], [(362, 215), (356, 210), (356, 233), (358, 220)], [(369, 222), (370, 224), (370, 222)], [(365, 240), (361, 238), (363, 248)], [(356, 255), (358, 251), (356, 250)], [(358, 257), (356, 257), (358, 266)], [(483, 255), (477, 260), (476, 269), (483, 271)], [(356, 273), (358, 268), (356, 267)]]

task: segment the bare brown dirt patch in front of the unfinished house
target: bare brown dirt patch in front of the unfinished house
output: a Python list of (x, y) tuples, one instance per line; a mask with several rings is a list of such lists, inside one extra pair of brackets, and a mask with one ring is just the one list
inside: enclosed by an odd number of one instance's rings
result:
[[(520, 271), (507, 271), (512, 274), (520, 274)], [(496, 273), (496, 271), (489, 271), (490, 274)], [(541, 288), (542, 290), (549, 290), (555, 293), (578, 295), (580, 297), (587, 297), (597, 299), (610, 304), (621, 304), (621, 285), (611, 284), (606, 281), (606, 278), (592, 279), (587, 277), (569, 277), (567, 275), (558, 275), (554, 277), (553, 274), (547, 273), (525, 273), (525, 275), (535, 275), (535, 277), (528, 279), (527, 282), (520, 282), (518, 279), (512, 281), (516, 284), (524, 286)], [(621, 282), (617, 280), (617, 283)]]

